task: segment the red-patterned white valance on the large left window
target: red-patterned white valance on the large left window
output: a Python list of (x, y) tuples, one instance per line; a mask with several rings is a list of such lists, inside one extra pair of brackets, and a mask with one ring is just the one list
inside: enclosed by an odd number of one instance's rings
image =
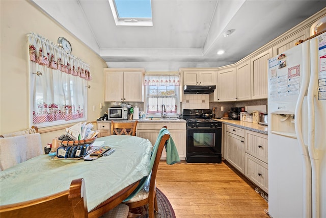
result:
[(27, 36), (31, 61), (51, 69), (59, 69), (66, 74), (92, 80), (89, 64), (37, 33), (29, 33)]

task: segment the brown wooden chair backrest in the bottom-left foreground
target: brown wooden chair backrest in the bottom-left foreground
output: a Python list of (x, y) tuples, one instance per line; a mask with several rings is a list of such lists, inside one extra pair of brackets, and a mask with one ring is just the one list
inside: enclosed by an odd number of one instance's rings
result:
[[(40, 187), (46, 188), (46, 187)], [(0, 217), (88, 217), (84, 179), (72, 180), (68, 190), (43, 198), (0, 206)]]

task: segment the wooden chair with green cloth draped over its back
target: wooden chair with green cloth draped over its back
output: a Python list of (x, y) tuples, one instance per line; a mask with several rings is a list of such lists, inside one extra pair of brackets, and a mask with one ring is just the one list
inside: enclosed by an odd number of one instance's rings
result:
[[(164, 126), (164, 128), (167, 128)], [(170, 138), (170, 134), (164, 134), (159, 142), (156, 157), (154, 160), (154, 165), (152, 168), (150, 182), (149, 182), (149, 191), (141, 190), (135, 197), (125, 202), (129, 206), (130, 209), (140, 207), (148, 204), (148, 214), (149, 218), (154, 218), (154, 211), (157, 212), (157, 200), (156, 200), (156, 175), (158, 164), (162, 155), (162, 151), (166, 146), (168, 140)]]

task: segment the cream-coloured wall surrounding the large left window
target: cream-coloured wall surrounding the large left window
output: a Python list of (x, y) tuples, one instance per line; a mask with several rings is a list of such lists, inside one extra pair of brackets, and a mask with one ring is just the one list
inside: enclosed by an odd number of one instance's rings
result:
[[(88, 82), (91, 88), (88, 89), (87, 120), (92, 122), (100, 117), (103, 114), (99, 104), (104, 103), (103, 68), (106, 63), (30, 2), (0, 1), (0, 10), (0, 134), (30, 127), (26, 44), (26, 34), (30, 32), (38, 33), (55, 43), (60, 36), (67, 38), (72, 45), (72, 54), (90, 64), (93, 80)], [(51, 142), (53, 137), (63, 133), (63, 130), (58, 130), (41, 134), (42, 143)]]

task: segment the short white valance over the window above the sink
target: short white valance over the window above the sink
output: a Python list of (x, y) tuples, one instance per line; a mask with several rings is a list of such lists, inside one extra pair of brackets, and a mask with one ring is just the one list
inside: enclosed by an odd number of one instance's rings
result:
[(145, 75), (145, 86), (179, 86), (179, 75)]

